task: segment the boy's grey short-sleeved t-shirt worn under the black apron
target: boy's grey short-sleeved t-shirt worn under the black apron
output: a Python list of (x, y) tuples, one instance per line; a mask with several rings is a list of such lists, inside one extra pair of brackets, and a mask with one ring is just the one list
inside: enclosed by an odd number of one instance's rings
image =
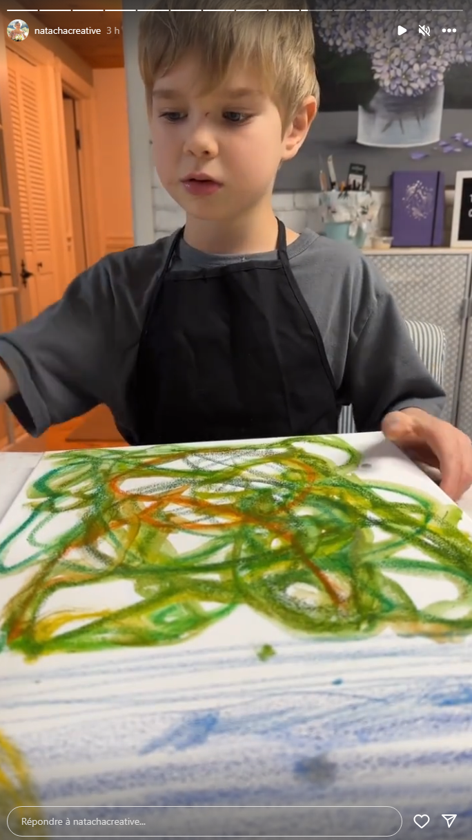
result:
[[(149, 296), (174, 235), (107, 255), (38, 318), (0, 335), (0, 359), (18, 383), (8, 405), (30, 434), (103, 402), (128, 443), (137, 442), (129, 385)], [(350, 244), (308, 229), (288, 246), (288, 258), (318, 324), (338, 402), (352, 403), (356, 428), (377, 430), (386, 412), (411, 406), (439, 416), (444, 391), (418, 356), (376, 267)], [(205, 254), (181, 240), (172, 268), (244, 259)]]

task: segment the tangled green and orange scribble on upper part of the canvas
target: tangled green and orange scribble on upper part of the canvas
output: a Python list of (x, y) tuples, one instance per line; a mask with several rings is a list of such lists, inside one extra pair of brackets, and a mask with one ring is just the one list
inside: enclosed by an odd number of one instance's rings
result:
[[(472, 629), (472, 539), (459, 508), (361, 479), (360, 454), (342, 438), (48, 460), (24, 521), (0, 542), (0, 577), (31, 571), (0, 631), (27, 659), (180, 643), (239, 605), (316, 638), (392, 627), (450, 640)], [(457, 594), (419, 608), (393, 573), (449, 581)], [(132, 585), (127, 606), (49, 609), (58, 591), (112, 581)]]

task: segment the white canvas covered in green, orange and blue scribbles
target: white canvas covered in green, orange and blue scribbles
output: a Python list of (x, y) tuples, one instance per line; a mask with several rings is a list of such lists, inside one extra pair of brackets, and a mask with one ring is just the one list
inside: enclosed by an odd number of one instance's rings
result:
[(471, 596), (381, 434), (46, 455), (0, 524), (0, 821), (470, 837)]

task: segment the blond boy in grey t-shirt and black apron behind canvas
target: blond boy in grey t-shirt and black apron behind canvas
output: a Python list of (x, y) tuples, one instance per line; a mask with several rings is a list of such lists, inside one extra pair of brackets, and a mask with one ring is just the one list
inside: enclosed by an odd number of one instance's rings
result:
[(459, 498), (472, 444), (438, 418), (444, 393), (385, 284), (272, 212), (318, 106), (314, 35), (285, 0), (245, 5), (144, 15), (154, 162), (184, 232), (106, 256), (0, 336), (0, 400), (33, 435), (104, 402), (130, 444), (335, 433), (352, 402), (360, 431), (438, 465)]

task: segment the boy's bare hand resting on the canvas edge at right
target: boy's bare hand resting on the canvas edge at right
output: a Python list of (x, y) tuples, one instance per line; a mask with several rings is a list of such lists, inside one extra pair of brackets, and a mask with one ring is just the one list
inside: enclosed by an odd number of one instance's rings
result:
[(386, 414), (381, 430), (412, 460), (437, 467), (441, 489), (457, 501), (472, 485), (472, 441), (451, 423), (421, 408)]

